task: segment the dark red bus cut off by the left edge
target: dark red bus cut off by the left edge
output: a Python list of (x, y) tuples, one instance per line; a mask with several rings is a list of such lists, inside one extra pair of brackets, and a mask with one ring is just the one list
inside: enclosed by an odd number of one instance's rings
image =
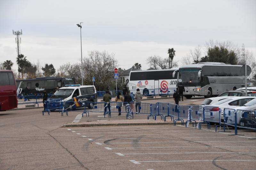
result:
[(12, 70), (0, 70), (0, 111), (17, 108), (16, 82)]

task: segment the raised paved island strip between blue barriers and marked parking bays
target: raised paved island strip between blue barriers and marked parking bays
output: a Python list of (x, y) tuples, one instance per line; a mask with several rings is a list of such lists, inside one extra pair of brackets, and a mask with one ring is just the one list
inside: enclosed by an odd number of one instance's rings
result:
[[(178, 124), (179, 122), (177, 122)], [(63, 127), (90, 127), (90, 126), (129, 126), (129, 125), (171, 125), (173, 122), (152, 119), (125, 119), (125, 120), (103, 120), (92, 122), (67, 123)]]

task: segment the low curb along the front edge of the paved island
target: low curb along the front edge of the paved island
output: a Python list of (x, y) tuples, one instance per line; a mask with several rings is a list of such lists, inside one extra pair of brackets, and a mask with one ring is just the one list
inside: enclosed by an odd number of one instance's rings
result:
[[(177, 122), (176, 124), (181, 124)], [(173, 122), (158, 122), (158, 123), (109, 123), (109, 124), (64, 124), (63, 128), (69, 127), (92, 127), (92, 126), (143, 126), (143, 125), (173, 125)]]

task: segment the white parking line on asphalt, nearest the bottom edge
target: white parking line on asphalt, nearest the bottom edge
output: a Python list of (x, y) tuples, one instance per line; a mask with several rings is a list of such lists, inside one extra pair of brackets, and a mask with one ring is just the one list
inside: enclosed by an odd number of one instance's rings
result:
[(148, 162), (206, 162), (206, 161), (236, 161), (236, 162), (255, 162), (256, 160), (152, 160), (152, 161), (135, 161), (135, 160), (130, 160), (134, 164), (140, 164), (142, 163), (148, 163)]

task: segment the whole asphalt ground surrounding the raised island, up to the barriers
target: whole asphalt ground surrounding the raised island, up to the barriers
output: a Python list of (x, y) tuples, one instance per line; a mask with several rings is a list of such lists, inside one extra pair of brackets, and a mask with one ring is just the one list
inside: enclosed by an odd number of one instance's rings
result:
[[(168, 102), (148, 100), (157, 101)], [(1, 169), (255, 169), (256, 140), (248, 139), (255, 138), (252, 130), (239, 129), (244, 136), (229, 136), (234, 129), (215, 132), (213, 127), (198, 130), (173, 124), (63, 128), (80, 113), (43, 116), (41, 111), (0, 113)], [(117, 114), (104, 118), (103, 113), (92, 113), (79, 119), (125, 120)], [(134, 115), (135, 121), (146, 117)]]

